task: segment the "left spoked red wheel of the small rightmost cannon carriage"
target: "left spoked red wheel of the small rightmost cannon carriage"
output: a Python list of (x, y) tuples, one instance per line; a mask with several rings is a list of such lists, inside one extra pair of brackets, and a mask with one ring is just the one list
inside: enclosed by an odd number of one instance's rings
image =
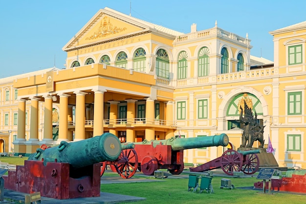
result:
[(229, 149), (222, 154), (220, 164), (224, 173), (233, 176), (234, 171), (241, 170), (243, 158), (237, 151)]

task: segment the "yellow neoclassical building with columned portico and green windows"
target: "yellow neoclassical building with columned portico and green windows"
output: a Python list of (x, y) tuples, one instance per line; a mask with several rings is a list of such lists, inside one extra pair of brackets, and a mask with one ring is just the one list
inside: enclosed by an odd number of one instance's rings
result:
[[(63, 47), (66, 69), (11, 82), (12, 92), (18, 90), (12, 109), (19, 125), (10, 143), (15, 154), (30, 154), (42, 144), (104, 132), (122, 142), (226, 133), (237, 149), (243, 131), (238, 103), (245, 96), (279, 165), (305, 168), (306, 23), (271, 35), (274, 66), (250, 55), (248, 35), (222, 30), (217, 22), (202, 31), (193, 24), (183, 34), (101, 9)], [(185, 150), (184, 162), (206, 163), (225, 149)]]

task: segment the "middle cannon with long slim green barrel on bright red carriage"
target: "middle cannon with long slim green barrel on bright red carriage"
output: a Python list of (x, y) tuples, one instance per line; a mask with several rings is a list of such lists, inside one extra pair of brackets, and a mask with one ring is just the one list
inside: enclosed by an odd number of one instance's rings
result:
[[(157, 169), (168, 169), (171, 174), (177, 175), (184, 169), (183, 150), (209, 146), (226, 146), (228, 136), (220, 134), (197, 138), (170, 138), (168, 140), (144, 140), (133, 143), (133, 150), (138, 157), (138, 170), (145, 175), (153, 175)], [(130, 163), (137, 163), (134, 157)]]

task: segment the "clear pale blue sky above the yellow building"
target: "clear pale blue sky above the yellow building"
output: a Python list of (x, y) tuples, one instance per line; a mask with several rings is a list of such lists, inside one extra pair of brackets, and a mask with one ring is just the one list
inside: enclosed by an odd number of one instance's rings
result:
[[(64, 45), (99, 9), (130, 14), (130, 0), (1, 0), (0, 79), (65, 68)], [(273, 61), (268, 33), (306, 20), (306, 0), (131, 0), (131, 15), (180, 32), (215, 26), (251, 40), (251, 55)], [(54, 60), (55, 59), (55, 60)]]

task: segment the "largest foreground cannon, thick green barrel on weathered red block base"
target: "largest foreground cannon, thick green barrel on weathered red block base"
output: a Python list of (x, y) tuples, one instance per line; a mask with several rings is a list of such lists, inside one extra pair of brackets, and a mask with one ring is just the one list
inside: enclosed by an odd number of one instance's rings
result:
[(100, 196), (100, 162), (114, 161), (121, 153), (121, 143), (111, 133), (87, 140), (37, 149), (4, 175), (4, 188), (23, 193), (69, 199)]

